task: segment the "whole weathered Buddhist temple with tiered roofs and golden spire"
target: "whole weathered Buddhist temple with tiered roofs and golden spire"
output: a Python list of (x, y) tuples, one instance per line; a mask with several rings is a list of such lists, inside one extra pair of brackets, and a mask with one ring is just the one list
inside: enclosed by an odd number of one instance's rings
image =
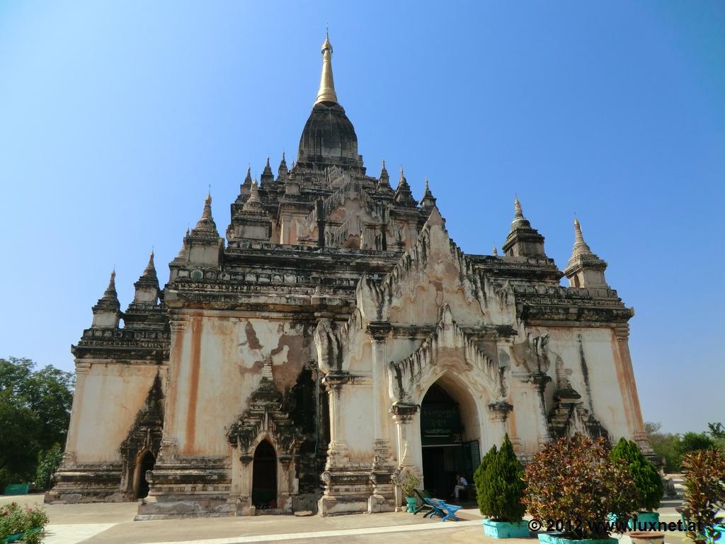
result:
[(326, 38), (296, 162), (247, 170), (225, 237), (207, 195), (163, 289), (152, 254), (122, 311), (112, 273), (72, 346), (47, 502), (138, 500), (137, 519), (392, 511), (405, 471), (448, 496), (507, 433), (523, 461), (576, 433), (650, 452), (633, 310), (579, 221), (563, 272), (518, 199), (502, 255), (464, 253), (427, 180), (419, 202), (402, 168), (368, 175), (332, 53)]

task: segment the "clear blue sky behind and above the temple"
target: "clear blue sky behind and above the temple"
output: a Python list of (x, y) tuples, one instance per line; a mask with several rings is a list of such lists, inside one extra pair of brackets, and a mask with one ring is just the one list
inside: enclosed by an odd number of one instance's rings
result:
[(725, 420), (725, 3), (0, 0), (0, 356), (72, 368), (117, 271), (162, 281), (211, 184), (294, 159), (329, 24), (368, 171), (428, 176), (466, 252), (513, 197), (560, 268), (573, 213), (634, 306), (642, 410)]

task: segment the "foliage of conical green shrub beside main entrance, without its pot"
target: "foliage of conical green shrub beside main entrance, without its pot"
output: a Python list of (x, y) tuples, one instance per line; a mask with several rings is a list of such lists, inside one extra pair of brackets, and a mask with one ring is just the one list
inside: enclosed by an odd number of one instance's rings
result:
[[(520, 522), (526, 512), (523, 506), (523, 466), (513, 453), (513, 445), (504, 437), (501, 449), (489, 458), (480, 478), (483, 503), (479, 503), (481, 514), (497, 522)], [(476, 482), (478, 494), (479, 482)]]

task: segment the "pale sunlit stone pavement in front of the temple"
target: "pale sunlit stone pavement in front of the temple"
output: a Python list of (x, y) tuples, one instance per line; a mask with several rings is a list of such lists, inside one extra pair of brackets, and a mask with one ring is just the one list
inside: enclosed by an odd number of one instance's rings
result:
[[(682, 493), (682, 490), (678, 490)], [(0, 504), (17, 500), (29, 506), (42, 504), (43, 495), (0, 496)], [(660, 519), (679, 519), (674, 510), (680, 500), (663, 501)], [(390, 544), (391, 540), (415, 544), (496, 544), (484, 537), (476, 508), (459, 512), (461, 522), (423, 519), (420, 514), (355, 514), (349, 516), (253, 516), (195, 519), (162, 519), (134, 522), (136, 503), (46, 505), (51, 523), (45, 544), (242, 544), (265, 542), (322, 544)], [(667, 544), (684, 544), (684, 534), (666, 533)], [(619, 544), (631, 544), (623, 536)], [(499, 541), (500, 542), (500, 541)], [(508, 539), (506, 544), (536, 544), (537, 540)]]

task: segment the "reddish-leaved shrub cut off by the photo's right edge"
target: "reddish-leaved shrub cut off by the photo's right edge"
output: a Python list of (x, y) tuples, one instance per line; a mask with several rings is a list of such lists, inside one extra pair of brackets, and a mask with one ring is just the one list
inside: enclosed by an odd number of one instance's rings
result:
[[(725, 542), (725, 453), (698, 450), (682, 458), (687, 537), (696, 544)], [(704, 534), (698, 530), (704, 527)]]

